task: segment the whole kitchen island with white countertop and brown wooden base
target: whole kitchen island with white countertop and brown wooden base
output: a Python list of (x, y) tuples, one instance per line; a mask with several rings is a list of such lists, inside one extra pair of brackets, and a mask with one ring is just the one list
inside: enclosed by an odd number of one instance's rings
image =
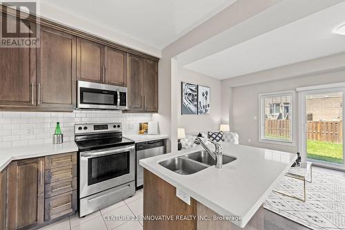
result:
[[(144, 229), (264, 229), (262, 204), (297, 156), (238, 144), (221, 145), (223, 155), (236, 158), (222, 169), (213, 165), (181, 175), (161, 165), (203, 151), (201, 146), (140, 161), (145, 169)], [(189, 204), (177, 198), (177, 191), (187, 202), (190, 198)], [(152, 220), (156, 216), (158, 220)]]

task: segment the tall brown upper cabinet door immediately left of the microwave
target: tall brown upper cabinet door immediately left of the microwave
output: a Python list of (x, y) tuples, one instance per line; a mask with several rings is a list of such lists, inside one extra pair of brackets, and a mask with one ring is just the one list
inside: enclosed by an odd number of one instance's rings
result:
[(72, 111), (76, 101), (76, 38), (42, 28), (38, 50), (37, 105), (43, 110)]

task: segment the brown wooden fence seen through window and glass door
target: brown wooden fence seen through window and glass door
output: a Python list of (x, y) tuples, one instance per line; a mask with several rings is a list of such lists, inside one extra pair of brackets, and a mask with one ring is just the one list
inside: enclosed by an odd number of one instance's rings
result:
[[(266, 119), (265, 135), (267, 135), (268, 137), (289, 139), (290, 122), (286, 119)], [(306, 137), (308, 140), (342, 143), (342, 121), (308, 121), (306, 124)]]

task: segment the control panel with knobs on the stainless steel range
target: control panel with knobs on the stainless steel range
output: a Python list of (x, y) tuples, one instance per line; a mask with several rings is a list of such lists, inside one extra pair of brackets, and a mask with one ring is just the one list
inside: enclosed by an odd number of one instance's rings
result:
[(122, 131), (121, 122), (115, 123), (97, 123), (97, 124), (76, 124), (75, 133), (103, 133)]

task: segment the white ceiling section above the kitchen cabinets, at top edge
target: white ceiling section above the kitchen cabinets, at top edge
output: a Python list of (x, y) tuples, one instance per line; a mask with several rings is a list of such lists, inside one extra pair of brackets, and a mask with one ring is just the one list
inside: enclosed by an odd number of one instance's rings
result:
[(164, 48), (237, 0), (40, 0), (102, 27)]

